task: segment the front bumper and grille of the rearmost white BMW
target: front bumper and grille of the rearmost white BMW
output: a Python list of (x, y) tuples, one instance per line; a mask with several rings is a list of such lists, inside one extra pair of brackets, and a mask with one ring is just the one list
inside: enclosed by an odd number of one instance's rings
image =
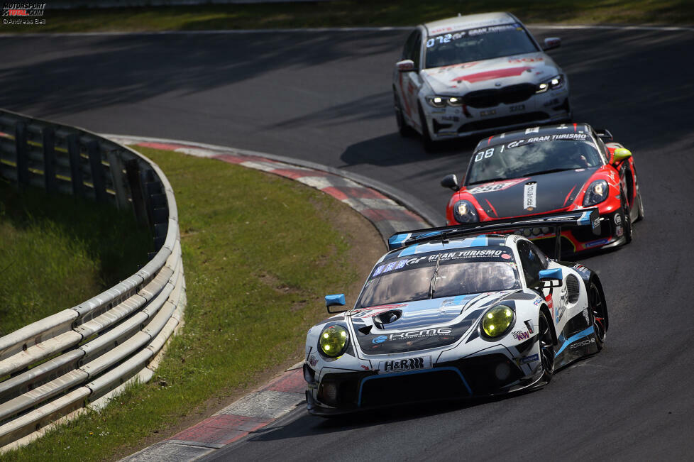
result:
[(477, 107), (435, 108), (422, 101), (432, 140), (498, 133), (529, 125), (566, 122), (571, 119), (568, 89), (532, 94), (522, 101), (495, 104), (493, 99), (473, 102)]

